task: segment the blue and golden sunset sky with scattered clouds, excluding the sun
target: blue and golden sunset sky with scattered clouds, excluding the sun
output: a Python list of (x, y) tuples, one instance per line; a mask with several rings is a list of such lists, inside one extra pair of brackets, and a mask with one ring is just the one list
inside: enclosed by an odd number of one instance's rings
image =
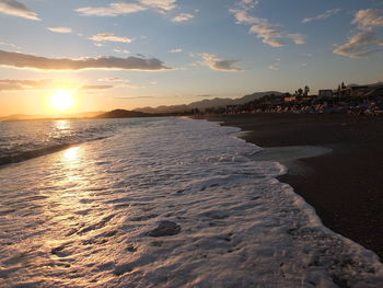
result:
[(383, 0), (0, 0), (0, 116), (383, 81)]

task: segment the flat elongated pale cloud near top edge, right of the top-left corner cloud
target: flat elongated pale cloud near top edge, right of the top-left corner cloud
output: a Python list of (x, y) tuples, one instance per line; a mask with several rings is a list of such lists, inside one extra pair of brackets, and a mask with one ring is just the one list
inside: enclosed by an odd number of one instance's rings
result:
[(111, 3), (108, 7), (83, 7), (74, 11), (85, 16), (118, 16), (143, 10), (147, 8), (137, 3), (117, 2)]

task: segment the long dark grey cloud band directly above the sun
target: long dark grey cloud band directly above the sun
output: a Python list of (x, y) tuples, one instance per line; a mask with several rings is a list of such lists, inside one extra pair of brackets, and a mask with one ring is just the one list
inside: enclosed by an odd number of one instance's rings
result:
[(81, 59), (53, 59), (3, 50), (0, 50), (0, 66), (40, 70), (105, 69), (155, 71), (171, 69), (156, 58), (147, 59), (134, 56), (117, 58), (109, 56)]

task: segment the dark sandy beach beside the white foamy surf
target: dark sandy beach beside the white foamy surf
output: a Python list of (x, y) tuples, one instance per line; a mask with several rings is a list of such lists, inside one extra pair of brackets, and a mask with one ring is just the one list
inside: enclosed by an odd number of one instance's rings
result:
[(333, 149), (312, 158), (303, 154), (294, 164), (285, 161), (291, 172), (280, 180), (315, 208), (326, 227), (383, 258), (383, 117), (269, 114), (209, 119), (251, 130), (245, 140), (266, 150), (279, 147), (274, 149), (279, 155), (292, 146)]

